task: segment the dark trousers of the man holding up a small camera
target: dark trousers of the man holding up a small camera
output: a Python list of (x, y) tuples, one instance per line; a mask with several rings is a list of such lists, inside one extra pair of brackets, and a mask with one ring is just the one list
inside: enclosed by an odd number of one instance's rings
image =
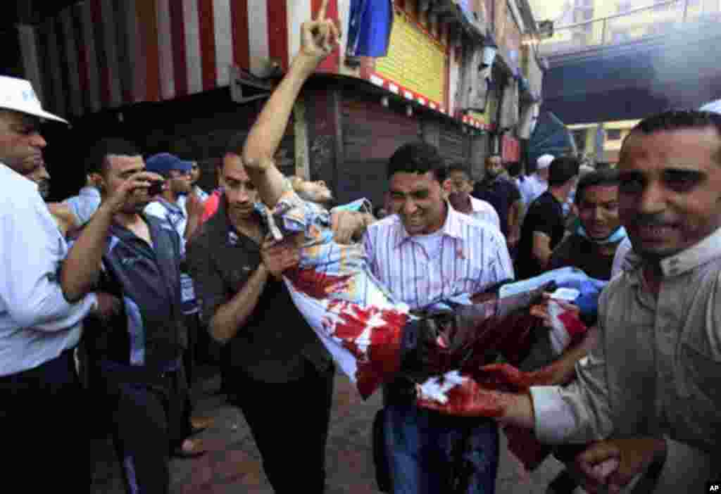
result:
[(111, 422), (125, 491), (169, 493), (170, 453), (190, 434), (182, 364), (169, 372), (146, 372), (104, 363), (94, 384)]

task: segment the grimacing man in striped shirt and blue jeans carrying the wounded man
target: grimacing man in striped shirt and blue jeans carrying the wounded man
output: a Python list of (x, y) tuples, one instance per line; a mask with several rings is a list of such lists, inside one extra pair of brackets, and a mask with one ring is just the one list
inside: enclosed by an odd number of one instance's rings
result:
[[(373, 275), (411, 309), (513, 279), (500, 230), (450, 207), (441, 187), (445, 175), (434, 146), (411, 143), (399, 148), (388, 166), (389, 194), (397, 214), (369, 226), (363, 239)], [(449, 449), (463, 449), (464, 442), (471, 441), (462, 490), (492, 493), (498, 458), (495, 424), (422, 410), (410, 390), (400, 378), (385, 390), (393, 492), (451, 492), (455, 475), (440, 459)]]

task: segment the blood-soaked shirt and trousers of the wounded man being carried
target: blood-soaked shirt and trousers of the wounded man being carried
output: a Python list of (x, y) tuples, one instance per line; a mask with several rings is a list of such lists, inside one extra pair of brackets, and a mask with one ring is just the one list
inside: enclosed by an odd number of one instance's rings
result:
[[(303, 183), (296, 184), (297, 192), (285, 181), (273, 210), (257, 209), (275, 241), (296, 242), (300, 262), (284, 271), (283, 279), (298, 310), (363, 398), (398, 372), (418, 384), (452, 371), (484, 380), (483, 366), (497, 354), (512, 364), (528, 354), (534, 330), (541, 328), (528, 309), (541, 302), (550, 283), (531, 280), (521, 292), (503, 298), (495, 289), (459, 294), (423, 313), (412, 312), (373, 277), (361, 243), (335, 241), (333, 210), (302, 198)], [(343, 208), (367, 205), (363, 200)], [(558, 270), (559, 277), (566, 285), (586, 279), (570, 269)], [(513, 292), (510, 287), (502, 292)], [(569, 336), (585, 329), (573, 315), (565, 317), (561, 324)]]

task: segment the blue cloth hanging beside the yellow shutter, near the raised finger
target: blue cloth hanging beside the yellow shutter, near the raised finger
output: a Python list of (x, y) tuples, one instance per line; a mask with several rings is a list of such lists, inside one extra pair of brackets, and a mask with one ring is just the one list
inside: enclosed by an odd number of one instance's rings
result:
[(351, 0), (348, 50), (351, 57), (384, 57), (393, 29), (392, 0)]

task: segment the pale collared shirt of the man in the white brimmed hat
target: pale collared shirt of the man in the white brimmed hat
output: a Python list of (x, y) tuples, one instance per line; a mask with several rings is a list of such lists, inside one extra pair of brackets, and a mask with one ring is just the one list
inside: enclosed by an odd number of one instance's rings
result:
[(2, 163), (0, 183), (0, 375), (9, 375), (76, 346), (97, 299), (65, 300), (58, 277), (68, 246), (37, 185)]

